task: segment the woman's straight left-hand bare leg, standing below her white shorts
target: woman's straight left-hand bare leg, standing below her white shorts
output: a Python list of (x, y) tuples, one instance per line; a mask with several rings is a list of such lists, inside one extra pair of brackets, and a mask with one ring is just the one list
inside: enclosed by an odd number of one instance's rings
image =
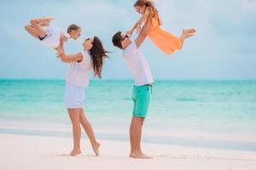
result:
[(67, 111), (73, 125), (73, 150), (70, 152), (69, 155), (76, 156), (81, 153), (81, 127), (79, 123), (79, 109), (68, 109)]

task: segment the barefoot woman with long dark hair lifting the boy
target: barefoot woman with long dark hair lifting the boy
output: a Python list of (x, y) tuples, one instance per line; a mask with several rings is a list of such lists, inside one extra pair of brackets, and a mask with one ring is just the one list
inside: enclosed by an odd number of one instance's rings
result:
[(102, 42), (98, 37), (90, 37), (84, 40), (82, 44), (84, 47), (83, 52), (67, 55), (63, 47), (64, 41), (64, 38), (61, 39), (61, 48), (58, 51), (58, 55), (61, 61), (70, 63), (65, 90), (65, 106), (73, 124), (73, 150), (69, 155), (76, 156), (81, 153), (81, 124), (90, 139), (92, 149), (98, 156), (100, 143), (96, 141), (90, 122), (84, 115), (84, 88), (89, 84), (88, 73), (91, 68), (94, 71), (94, 77), (102, 78), (103, 62), (104, 59), (108, 58), (107, 51), (103, 48)]

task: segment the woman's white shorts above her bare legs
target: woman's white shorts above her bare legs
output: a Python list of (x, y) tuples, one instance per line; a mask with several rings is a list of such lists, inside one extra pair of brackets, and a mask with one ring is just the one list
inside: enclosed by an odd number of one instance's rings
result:
[(64, 103), (67, 109), (83, 108), (84, 88), (66, 85)]

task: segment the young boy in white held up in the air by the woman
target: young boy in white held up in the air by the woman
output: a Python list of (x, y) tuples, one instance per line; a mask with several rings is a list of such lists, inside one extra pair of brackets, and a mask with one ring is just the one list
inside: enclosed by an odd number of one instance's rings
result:
[(58, 50), (60, 48), (60, 39), (64, 39), (65, 42), (72, 38), (77, 40), (81, 35), (81, 28), (77, 25), (68, 26), (67, 32), (61, 31), (54, 26), (49, 26), (49, 23), (53, 18), (46, 17), (41, 19), (30, 20), (30, 25), (25, 26), (25, 30), (37, 38), (45, 46)]

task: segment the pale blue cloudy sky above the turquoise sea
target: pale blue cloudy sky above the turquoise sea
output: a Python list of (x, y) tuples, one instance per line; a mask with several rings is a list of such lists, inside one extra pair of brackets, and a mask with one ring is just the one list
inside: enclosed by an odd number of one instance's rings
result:
[[(5, 1), (0, 6), (0, 78), (64, 78), (67, 64), (55, 51), (30, 37), (24, 26), (31, 18), (53, 16), (52, 25), (66, 30), (83, 28), (79, 41), (67, 42), (67, 53), (82, 50), (84, 37), (98, 36), (112, 51), (103, 70), (104, 79), (131, 78), (121, 51), (113, 48), (116, 31), (126, 31), (139, 15), (135, 0)], [(156, 0), (163, 28), (179, 36), (195, 27), (195, 37), (182, 51), (166, 55), (149, 41), (143, 44), (155, 79), (255, 79), (255, 0)], [(136, 35), (134, 35), (135, 37)], [(133, 37), (133, 38), (134, 38)]]

